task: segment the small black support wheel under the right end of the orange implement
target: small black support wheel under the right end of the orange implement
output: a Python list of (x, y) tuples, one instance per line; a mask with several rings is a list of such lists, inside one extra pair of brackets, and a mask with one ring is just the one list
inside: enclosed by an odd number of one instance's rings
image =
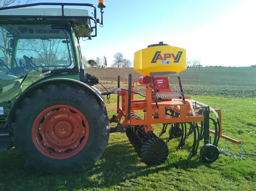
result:
[(214, 162), (219, 158), (219, 150), (212, 144), (206, 144), (200, 149), (200, 158), (204, 162)]

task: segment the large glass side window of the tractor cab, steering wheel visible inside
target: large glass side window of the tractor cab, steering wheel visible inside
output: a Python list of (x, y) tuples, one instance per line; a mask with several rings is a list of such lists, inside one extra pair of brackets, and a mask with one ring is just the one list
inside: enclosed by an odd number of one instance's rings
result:
[[(45, 72), (75, 65), (72, 36), (51, 25), (0, 24), (0, 115)], [(50, 72), (49, 72), (50, 73)]]

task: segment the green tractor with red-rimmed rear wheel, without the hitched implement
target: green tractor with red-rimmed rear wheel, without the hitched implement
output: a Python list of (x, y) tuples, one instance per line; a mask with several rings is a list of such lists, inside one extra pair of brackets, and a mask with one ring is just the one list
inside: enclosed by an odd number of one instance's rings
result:
[(97, 77), (85, 73), (79, 45), (103, 25), (104, 1), (98, 8), (101, 19), (88, 3), (0, 9), (0, 151), (15, 147), (39, 172), (85, 171), (107, 146), (104, 97), (93, 87)]

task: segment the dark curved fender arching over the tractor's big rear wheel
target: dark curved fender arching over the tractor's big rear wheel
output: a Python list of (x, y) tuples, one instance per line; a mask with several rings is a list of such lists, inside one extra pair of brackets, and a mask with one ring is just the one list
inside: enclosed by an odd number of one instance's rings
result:
[(19, 104), (22, 102), (22, 100), (24, 98), (27, 97), (27, 95), (29, 95), (29, 93), (31, 93), (32, 91), (38, 89), (40, 86), (45, 86), (48, 84), (52, 84), (54, 82), (62, 82), (62, 83), (69, 83), (69, 84), (76, 84), (76, 85), (80, 85), (81, 87), (88, 89), (92, 92), (94, 92), (94, 94), (102, 101), (104, 102), (105, 98), (103, 97), (103, 95), (101, 95), (101, 93), (93, 88), (92, 86), (85, 84), (83, 82), (80, 82), (76, 79), (70, 79), (70, 78), (54, 78), (54, 79), (48, 79), (48, 80), (43, 80), (41, 82), (38, 82), (32, 86), (29, 86), (27, 89), (25, 89), (22, 94), (17, 98), (17, 100), (14, 102), (14, 104), (12, 105), (9, 115), (7, 116), (7, 120), (6, 120), (6, 126), (8, 127), (8, 124), (10, 124), (13, 121), (13, 117), (15, 114), (15, 110), (17, 109), (17, 107), (19, 106)]

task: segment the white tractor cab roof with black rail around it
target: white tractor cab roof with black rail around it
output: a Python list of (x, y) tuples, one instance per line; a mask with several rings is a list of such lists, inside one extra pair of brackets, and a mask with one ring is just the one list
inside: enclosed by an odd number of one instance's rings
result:
[[(60, 6), (60, 8), (34, 8), (34, 6), (42, 5)], [(92, 17), (89, 16), (89, 12), (86, 9), (69, 9), (64, 8), (64, 6), (90, 7), (94, 9), (94, 14)], [(26, 24), (35, 24), (35, 21), (39, 21), (38, 24), (40, 22), (43, 22), (42, 24), (58, 24), (58, 21), (69, 21), (79, 37), (89, 37), (89, 39), (97, 36), (96, 25), (100, 23), (100, 20), (97, 19), (96, 14), (95, 5), (88, 3), (33, 3), (0, 8), (0, 20), (4, 24), (20, 24), (20, 22), (26, 21), (28, 21)], [(91, 26), (91, 21), (94, 22), (94, 26)], [(95, 31), (94, 35), (91, 34), (93, 31)]]

